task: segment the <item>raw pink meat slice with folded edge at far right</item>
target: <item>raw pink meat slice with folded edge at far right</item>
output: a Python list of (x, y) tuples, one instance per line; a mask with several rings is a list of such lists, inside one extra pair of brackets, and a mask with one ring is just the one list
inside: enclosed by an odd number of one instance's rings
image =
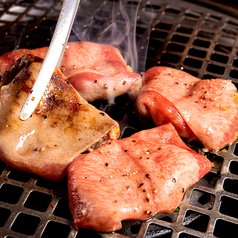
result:
[(169, 67), (143, 76), (136, 108), (156, 125), (171, 122), (181, 137), (199, 140), (210, 150), (233, 142), (238, 132), (237, 89), (229, 80), (200, 80)]

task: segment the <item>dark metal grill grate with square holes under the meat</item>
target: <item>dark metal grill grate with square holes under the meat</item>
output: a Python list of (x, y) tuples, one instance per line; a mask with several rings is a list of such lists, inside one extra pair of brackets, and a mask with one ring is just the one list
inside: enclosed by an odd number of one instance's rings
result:
[[(230, 79), (238, 87), (236, 10), (210, 1), (122, 3), (127, 11), (138, 10), (137, 24), (133, 26), (133, 22), (131, 28), (136, 29), (138, 72), (165, 65), (201, 79)], [(83, 24), (74, 26), (70, 40), (78, 39), (78, 32), (85, 30), (90, 33), (87, 40), (98, 39), (99, 32), (112, 22), (114, 4), (120, 2), (81, 1), (77, 20)], [(0, 0), (0, 54), (16, 48), (48, 46), (60, 9), (57, 0)], [(120, 14), (116, 16), (114, 21), (122, 24)], [(126, 54), (124, 48), (120, 50)], [(94, 103), (120, 123), (122, 137), (151, 126), (138, 120), (128, 100), (121, 96), (110, 105), (105, 101)], [(219, 152), (203, 151), (199, 143), (189, 146), (213, 162), (212, 170), (186, 191), (171, 215), (159, 214), (145, 222), (123, 221), (123, 228), (114, 233), (74, 227), (66, 178), (54, 183), (0, 162), (0, 237), (237, 237), (237, 144)]]

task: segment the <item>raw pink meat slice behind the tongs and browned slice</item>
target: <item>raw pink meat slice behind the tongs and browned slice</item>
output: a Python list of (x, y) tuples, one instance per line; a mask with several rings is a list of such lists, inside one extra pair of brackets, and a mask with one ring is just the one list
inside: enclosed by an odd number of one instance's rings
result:
[[(48, 47), (18, 49), (0, 57), (1, 74), (25, 54), (44, 58)], [(87, 101), (113, 99), (128, 93), (141, 76), (126, 65), (119, 50), (107, 44), (69, 42), (60, 69)]]

